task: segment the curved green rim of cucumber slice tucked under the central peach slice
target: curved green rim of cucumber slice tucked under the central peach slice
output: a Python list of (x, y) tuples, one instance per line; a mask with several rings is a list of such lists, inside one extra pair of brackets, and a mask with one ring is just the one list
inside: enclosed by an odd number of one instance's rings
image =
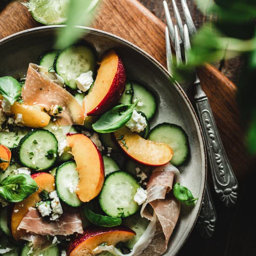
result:
[[(73, 161), (65, 162), (65, 163), (61, 164), (61, 166), (59, 166), (56, 169), (55, 184), (56, 184), (57, 193), (58, 193), (59, 197), (61, 198), (61, 200), (63, 202), (65, 202), (67, 205), (69, 205), (71, 207), (79, 207), (79, 206), (81, 206), (82, 202), (79, 200), (79, 198), (77, 197), (77, 195), (75, 193), (71, 194), (70, 192), (62, 191), (64, 189), (64, 186), (63, 186), (63, 182), (60, 182), (60, 181), (67, 177), (67, 174), (65, 175), (65, 170), (66, 170), (65, 168), (76, 168), (76, 164)], [(67, 171), (68, 171), (68, 169), (67, 169)], [(66, 196), (64, 195), (65, 193), (70, 194), (69, 195), (71, 197), (70, 200), (69, 200), (69, 198), (67, 198), (67, 194), (66, 194)]]

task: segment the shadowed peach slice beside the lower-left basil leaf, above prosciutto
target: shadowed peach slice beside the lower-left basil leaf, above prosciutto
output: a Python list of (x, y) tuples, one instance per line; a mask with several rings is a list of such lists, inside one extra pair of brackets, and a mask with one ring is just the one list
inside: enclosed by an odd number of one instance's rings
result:
[(36, 173), (31, 175), (34, 181), (37, 183), (39, 189), (22, 202), (15, 203), (12, 213), (12, 234), (14, 239), (19, 240), (22, 236), (26, 235), (25, 230), (17, 230), (23, 217), (27, 214), (29, 207), (35, 207), (37, 202), (40, 202), (40, 192), (45, 189), (47, 192), (55, 190), (54, 177), (48, 173)]

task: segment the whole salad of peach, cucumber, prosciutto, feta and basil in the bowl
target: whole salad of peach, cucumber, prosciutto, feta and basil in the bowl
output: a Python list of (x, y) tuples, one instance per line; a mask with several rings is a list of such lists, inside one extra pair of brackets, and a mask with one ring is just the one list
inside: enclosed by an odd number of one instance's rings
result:
[[(49, 50), (0, 78), (0, 255), (162, 255), (181, 203), (182, 127), (115, 50)], [(159, 113), (164, 115), (164, 113)]]

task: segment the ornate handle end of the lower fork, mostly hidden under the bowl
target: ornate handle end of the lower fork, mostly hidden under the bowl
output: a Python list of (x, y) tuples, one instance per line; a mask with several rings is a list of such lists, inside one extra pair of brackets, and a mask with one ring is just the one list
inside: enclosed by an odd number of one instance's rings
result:
[(216, 211), (209, 191), (209, 185), (206, 183), (202, 207), (196, 222), (196, 228), (200, 235), (204, 238), (211, 237), (215, 230), (216, 221)]

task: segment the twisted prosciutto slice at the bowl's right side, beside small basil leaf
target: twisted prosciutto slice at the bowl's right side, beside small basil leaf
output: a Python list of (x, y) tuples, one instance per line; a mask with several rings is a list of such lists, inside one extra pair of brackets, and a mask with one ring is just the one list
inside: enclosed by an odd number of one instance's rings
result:
[[(142, 256), (162, 255), (167, 249), (169, 238), (178, 221), (181, 209), (180, 202), (175, 199), (172, 193), (169, 193), (176, 174), (179, 174), (177, 168), (168, 163), (155, 168), (150, 176), (147, 186), (148, 199), (142, 205), (141, 216), (150, 221), (153, 220), (152, 211), (149, 207), (151, 205), (158, 222), (156, 223), (155, 236), (148, 248), (141, 254)], [(177, 178), (180, 179), (179, 175)]]

